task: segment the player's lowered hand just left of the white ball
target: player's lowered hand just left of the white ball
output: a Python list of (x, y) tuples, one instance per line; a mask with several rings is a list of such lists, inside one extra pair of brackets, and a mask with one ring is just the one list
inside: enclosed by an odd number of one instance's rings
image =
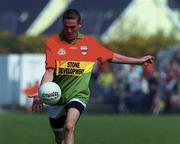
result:
[(39, 96), (33, 97), (32, 111), (33, 112), (42, 112), (43, 111), (43, 103), (41, 102)]

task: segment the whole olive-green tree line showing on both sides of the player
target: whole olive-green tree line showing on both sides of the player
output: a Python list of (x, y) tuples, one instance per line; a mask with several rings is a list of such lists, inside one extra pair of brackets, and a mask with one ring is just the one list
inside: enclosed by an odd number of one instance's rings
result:
[[(30, 37), (26, 35), (12, 35), (8, 32), (0, 32), (0, 54), (9, 53), (44, 53), (44, 42), (48, 36), (40, 35)], [(142, 56), (156, 54), (162, 48), (180, 44), (180, 41), (163, 36), (150, 38), (134, 36), (126, 41), (114, 41), (103, 44), (109, 49), (128, 56)]]

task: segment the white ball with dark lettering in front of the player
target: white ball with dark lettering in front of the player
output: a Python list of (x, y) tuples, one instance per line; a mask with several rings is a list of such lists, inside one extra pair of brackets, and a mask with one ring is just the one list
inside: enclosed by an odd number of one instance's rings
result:
[(44, 104), (54, 105), (61, 98), (61, 88), (54, 82), (46, 82), (40, 86), (38, 95)]

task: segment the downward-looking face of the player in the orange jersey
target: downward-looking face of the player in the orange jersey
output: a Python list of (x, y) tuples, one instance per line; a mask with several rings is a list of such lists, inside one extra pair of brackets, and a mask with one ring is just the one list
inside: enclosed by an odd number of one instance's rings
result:
[(76, 19), (65, 19), (63, 21), (63, 26), (65, 37), (69, 41), (75, 40), (81, 27), (81, 23), (79, 23)]

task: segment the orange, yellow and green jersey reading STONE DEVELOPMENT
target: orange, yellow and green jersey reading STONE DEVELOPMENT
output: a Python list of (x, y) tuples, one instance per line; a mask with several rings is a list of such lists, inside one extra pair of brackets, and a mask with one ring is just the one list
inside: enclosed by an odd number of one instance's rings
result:
[(53, 81), (62, 90), (60, 103), (78, 98), (87, 104), (89, 80), (97, 60), (111, 59), (113, 52), (102, 47), (94, 38), (78, 34), (73, 44), (63, 34), (50, 37), (46, 43), (46, 68), (55, 68)]

